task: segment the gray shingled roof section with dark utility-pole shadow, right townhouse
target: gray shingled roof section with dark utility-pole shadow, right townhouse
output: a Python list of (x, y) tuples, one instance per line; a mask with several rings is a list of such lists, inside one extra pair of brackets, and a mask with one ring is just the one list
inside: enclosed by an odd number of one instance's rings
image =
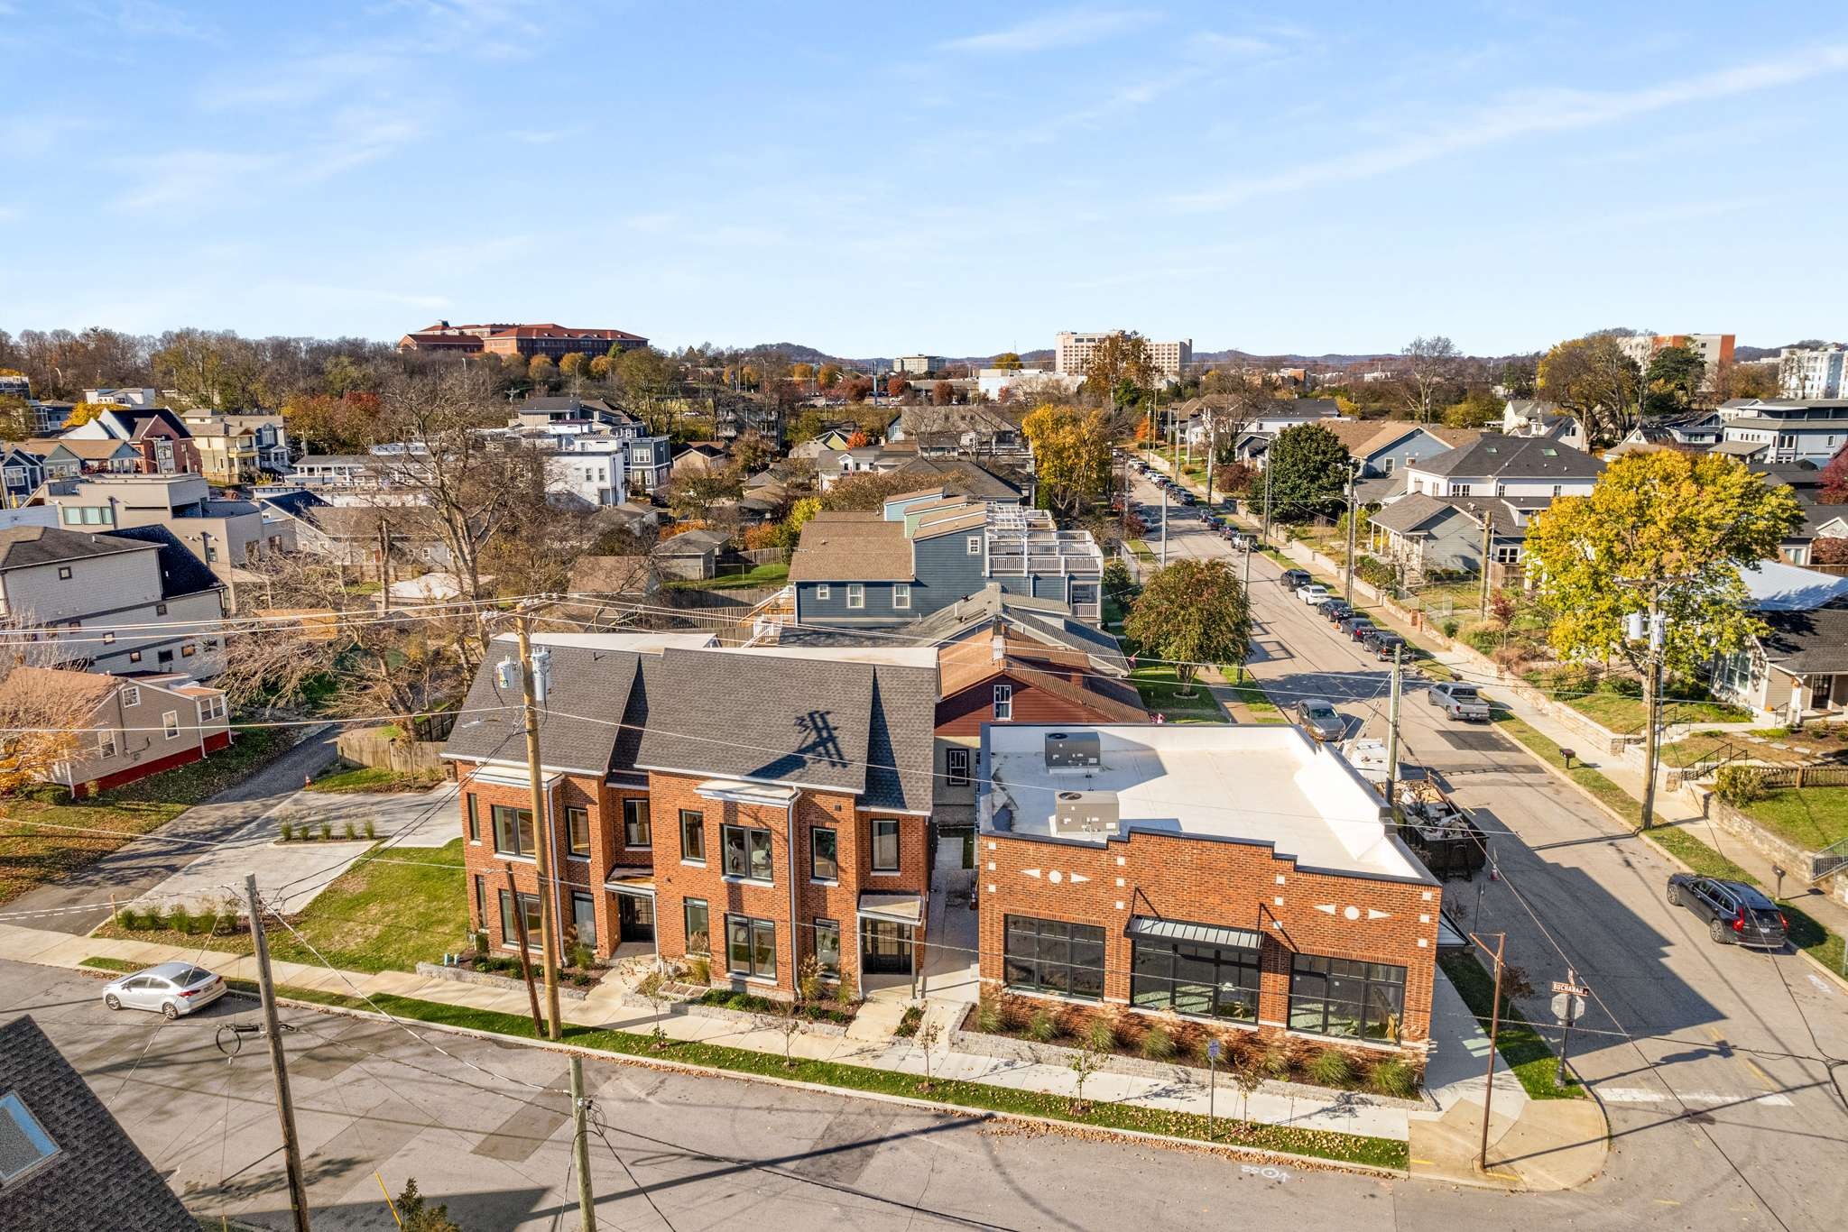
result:
[(638, 767), (930, 809), (931, 669), (669, 648), (649, 698)]

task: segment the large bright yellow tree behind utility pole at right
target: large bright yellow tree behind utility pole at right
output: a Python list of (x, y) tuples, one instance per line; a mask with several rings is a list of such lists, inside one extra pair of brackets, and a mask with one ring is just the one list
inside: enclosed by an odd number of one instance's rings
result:
[[(1628, 663), (1654, 717), (1650, 639), (1630, 641), (1628, 617), (1665, 619), (1669, 672), (1746, 650), (1765, 626), (1739, 571), (1776, 558), (1802, 521), (1789, 488), (1770, 488), (1722, 454), (1626, 454), (1591, 495), (1560, 497), (1528, 526), (1526, 573), (1554, 611), (1549, 641), (1567, 659)], [(1645, 765), (1656, 765), (1654, 720), (1645, 722)]]

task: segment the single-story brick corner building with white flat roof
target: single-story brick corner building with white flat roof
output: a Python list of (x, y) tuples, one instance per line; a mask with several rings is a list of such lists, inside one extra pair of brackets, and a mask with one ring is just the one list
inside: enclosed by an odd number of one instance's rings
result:
[(1429, 1038), (1441, 890), (1297, 728), (989, 724), (978, 781), (987, 984)]

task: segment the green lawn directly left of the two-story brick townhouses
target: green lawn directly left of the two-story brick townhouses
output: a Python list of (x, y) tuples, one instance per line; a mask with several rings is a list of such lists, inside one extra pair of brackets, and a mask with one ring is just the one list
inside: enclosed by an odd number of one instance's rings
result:
[[(462, 840), (432, 848), (388, 848), (379, 859), (359, 863), (322, 890), (294, 920), (303, 940), (288, 929), (270, 929), (270, 957), (286, 962), (327, 962), (351, 972), (410, 972), (434, 962), (444, 951), (468, 946), (468, 890), (462, 876)], [(96, 936), (200, 946), (224, 953), (249, 953), (249, 935), (213, 936), (177, 929), (124, 929), (109, 922)]]

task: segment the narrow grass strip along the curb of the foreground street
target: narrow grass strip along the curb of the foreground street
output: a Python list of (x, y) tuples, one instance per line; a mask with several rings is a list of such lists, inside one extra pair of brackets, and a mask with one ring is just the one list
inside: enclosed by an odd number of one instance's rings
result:
[[(85, 959), (83, 966), (103, 972), (135, 972), (142, 964), (122, 962), (120, 959)], [(237, 992), (255, 992), (248, 979), (227, 979)], [(444, 1027), (468, 1027), (514, 1038), (534, 1038), (532, 1020), (499, 1010), (482, 1010), (468, 1005), (444, 1005), (438, 1001), (418, 1001), (392, 994), (377, 994), (371, 1003), (336, 992), (318, 992), (314, 988), (279, 986), (277, 996), (333, 1009), (370, 1010), (373, 1005), (410, 1021), (427, 1021)], [(1118, 1105), (1105, 1101), (1087, 1101), (1076, 1110), (1072, 1099), (1048, 1095), (1044, 1092), (1022, 1092), (989, 1082), (963, 1082), (935, 1079), (928, 1086), (920, 1075), (896, 1073), (893, 1069), (872, 1069), (869, 1066), (845, 1066), (833, 1060), (785, 1062), (774, 1053), (754, 1053), (723, 1044), (697, 1044), (693, 1040), (667, 1040), (656, 1045), (654, 1036), (628, 1031), (606, 1031), (601, 1027), (575, 1027), (565, 1023), (565, 1044), (590, 1047), (599, 1053), (619, 1057), (645, 1057), (656, 1060), (676, 1060), (689, 1066), (706, 1066), (728, 1073), (748, 1073), (761, 1077), (789, 1079), (795, 1082), (813, 1082), (845, 1092), (867, 1092), (876, 1095), (904, 1095), (906, 1099), (924, 1099), (952, 1108), (972, 1112), (1002, 1112), (1013, 1116), (1037, 1116), (1050, 1121), (1088, 1125), (1094, 1129), (1124, 1129), (1142, 1134), (1164, 1134), (1168, 1138), (1188, 1138), (1194, 1141), (1214, 1141), (1227, 1147), (1251, 1147), (1255, 1151), (1283, 1151), (1288, 1154), (1307, 1154), (1318, 1160), (1340, 1164), (1366, 1164), (1371, 1167), (1390, 1167), (1404, 1171), (1410, 1166), (1406, 1143), (1392, 1138), (1368, 1138), (1364, 1134), (1342, 1134), (1325, 1129), (1297, 1129), (1290, 1125), (1264, 1125), (1260, 1121), (1238, 1121), (1216, 1117), (1212, 1136), (1207, 1134), (1207, 1117), (1192, 1112), (1172, 1112), (1168, 1108), (1144, 1108), (1138, 1105)]]

